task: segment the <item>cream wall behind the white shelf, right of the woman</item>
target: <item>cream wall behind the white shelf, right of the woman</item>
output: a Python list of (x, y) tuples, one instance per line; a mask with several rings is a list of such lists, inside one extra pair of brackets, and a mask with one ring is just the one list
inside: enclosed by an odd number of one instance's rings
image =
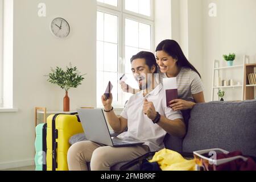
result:
[[(209, 3), (216, 3), (217, 17), (209, 17)], [(256, 1), (255, 0), (204, 0), (203, 1), (203, 47), (205, 98), (211, 100), (213, 61), (223, 60), (222, 55), (234, 52), (234, 64), (242, 64), (243, 54), (256, 62)], [(253, 61), (251, 61), (253, 62)], [(223, 61), (223, 65), (226, 63)], [(228, 78), (240, 81), (241, 69), (234, 69)], [(226, 89), (227, 100), (241, 100), (241, 88)]]

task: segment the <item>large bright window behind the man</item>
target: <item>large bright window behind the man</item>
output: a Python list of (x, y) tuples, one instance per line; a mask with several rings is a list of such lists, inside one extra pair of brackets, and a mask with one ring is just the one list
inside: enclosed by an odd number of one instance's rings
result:
[(113, 84), (113, 106), (123, 106), (131, 94), (123, 93), (119, 77), (138, 88), (131, 74), (131, 56), (154, 51), (153, 0), (97, 0), (97, 106), (108, 82)]

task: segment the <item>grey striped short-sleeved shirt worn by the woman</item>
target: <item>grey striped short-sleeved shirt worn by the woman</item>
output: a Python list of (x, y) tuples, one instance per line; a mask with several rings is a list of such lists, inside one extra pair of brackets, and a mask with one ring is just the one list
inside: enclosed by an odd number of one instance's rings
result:
[[(167, 78), (166, 73), (159, 74), (160, 82)], [(192, 99), (192, 94), (203, 92), (204, 86), (200, 76), (190, 68), (181, 68), (177, 75), (178, 98), (187, 100)]]

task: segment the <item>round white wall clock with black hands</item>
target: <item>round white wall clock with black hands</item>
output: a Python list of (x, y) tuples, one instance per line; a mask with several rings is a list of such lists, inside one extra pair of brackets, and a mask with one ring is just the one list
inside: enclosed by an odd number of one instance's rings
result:
[(63, 18), (55, 18), (51, 22), (51, 31), (58, 38), (65, 38), (69, 35), (70, 27)]

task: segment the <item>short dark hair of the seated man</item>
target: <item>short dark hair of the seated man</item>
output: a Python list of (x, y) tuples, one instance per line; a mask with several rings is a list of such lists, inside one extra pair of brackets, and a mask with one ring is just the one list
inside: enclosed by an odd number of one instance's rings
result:
[(158, 68), (158, 64), (156, 64), (156, 59), (155, 59), (155, 55), (152, 52), (147, 52), (147, 51), (141, 51), (139, 53), (137, 53), (137, 55), (134, 55), (133, 57), (131, 57), (131, 63), (133, 63), (133, 60), (135, 59), (145, 59), (146, 60), (146, 64), (148, 65), (148, 68), (152, 68), (153, 65), (155, 65), (155, 72), (157, 73), (157, 68)]

